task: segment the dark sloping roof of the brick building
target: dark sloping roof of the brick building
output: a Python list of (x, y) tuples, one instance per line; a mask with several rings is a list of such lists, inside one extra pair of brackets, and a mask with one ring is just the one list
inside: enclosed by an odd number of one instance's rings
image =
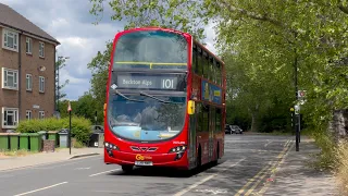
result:
[(47, 34), (40, 27), (28, 21), (26, 17), (14, 11), (7, 4), (0, 3), (0, 25), (23, 30), (24, 33), (35, 35), (37, 37), (48, 39), (55, 44), (60, 44), (54, 37)]

